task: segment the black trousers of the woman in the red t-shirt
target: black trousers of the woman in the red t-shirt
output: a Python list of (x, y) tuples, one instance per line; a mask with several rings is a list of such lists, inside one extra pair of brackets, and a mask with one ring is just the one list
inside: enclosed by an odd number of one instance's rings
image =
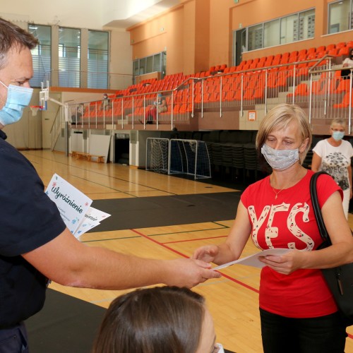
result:
[(346, 325), (339, 313), (285, 318), (260, 309), (264, 353), (344, 353)]

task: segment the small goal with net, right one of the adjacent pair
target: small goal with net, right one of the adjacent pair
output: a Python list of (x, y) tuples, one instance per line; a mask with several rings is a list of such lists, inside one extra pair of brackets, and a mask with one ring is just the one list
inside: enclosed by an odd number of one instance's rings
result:
[(210, 157), (205, 141), (172, 138), (169, 146), (169, 174), (210, 178)]

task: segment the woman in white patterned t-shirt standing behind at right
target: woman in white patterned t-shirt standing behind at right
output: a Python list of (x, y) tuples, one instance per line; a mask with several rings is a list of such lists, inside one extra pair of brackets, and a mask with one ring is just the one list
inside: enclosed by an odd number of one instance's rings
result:
[(349, 200), (352, 198), (352, 144), (343, 140), (345, 136), (345, 120), (333, 119), (330, 125), (330, 138), (318, 141), (313, 148), (311, 170), (322, 170), (330, 174), (343, 190), (343, 210), (348, 220)]

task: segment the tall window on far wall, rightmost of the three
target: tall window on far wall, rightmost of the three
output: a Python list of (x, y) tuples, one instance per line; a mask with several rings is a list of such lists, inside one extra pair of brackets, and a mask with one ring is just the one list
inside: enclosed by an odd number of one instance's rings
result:
[(109, 32), (88, 31), (88, 88), (108, 88)]

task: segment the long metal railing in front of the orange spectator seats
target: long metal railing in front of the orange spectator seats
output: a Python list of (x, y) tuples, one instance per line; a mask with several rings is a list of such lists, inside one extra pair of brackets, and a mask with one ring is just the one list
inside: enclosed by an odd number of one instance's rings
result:
[[(308, 109), (309, 119), (343, 117), (351, 126), (352, 74), (348, 80), (333, 68), (331, 57), (319, 61), (299, 61), (246, 71), (232, 71), (206, 77), (187, 77), (181, 82), (155, 81), (125, 92), (109, 100), (74, 102), (69, 104), (71, 124), (81, 128), (136, 128), (147, 123), (150, 109), (155, 109), (157, 96), (162, 93), (167, 109), (157, 109), (153, 115), (156, 128), (160, 124), (189, 122), (196, 112), (203, 118), (205, 112), (225, 110), (268, 109), (281, 102), (299, 104)], [(164, 81), (164, 82), (163, 82)], [(343, 81), (347, 81), (344, 83)], [(349, 83), (348, 83), (349, 81)], [(138, 92), (138, 93), (136, 93)], [(80, 105), (82, 114), (78, 116)]]

